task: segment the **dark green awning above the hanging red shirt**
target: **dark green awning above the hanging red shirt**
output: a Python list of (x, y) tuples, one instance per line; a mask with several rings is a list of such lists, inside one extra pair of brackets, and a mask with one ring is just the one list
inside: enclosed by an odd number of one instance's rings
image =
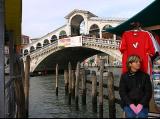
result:
[(116, 35), (121, 35), (124, 31), (131, 29), (131, 23), (139, 22), (142, 28), (153, 27), (160, 29), (160, 0), (155, 0), (142, 11), (131, 17), (127, 21), (117, 27), (107, 28), (105, 32), (110, 32)]

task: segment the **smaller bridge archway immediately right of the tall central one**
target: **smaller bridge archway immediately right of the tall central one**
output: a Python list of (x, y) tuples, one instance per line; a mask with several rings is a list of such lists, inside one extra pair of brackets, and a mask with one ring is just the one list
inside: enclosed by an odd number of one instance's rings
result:
[(89, 35), (91, 37), (100, 38), (100, 28), (97, 24), (93, 24), (89, 29)]

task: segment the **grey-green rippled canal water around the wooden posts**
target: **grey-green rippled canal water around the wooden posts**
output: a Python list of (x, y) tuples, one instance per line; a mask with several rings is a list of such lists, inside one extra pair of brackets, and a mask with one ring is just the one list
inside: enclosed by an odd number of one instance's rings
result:
[[(116, 76), (117, 77), (117, 76)], [(118, 84), (118, 78), (115, 81)], [(79, 109), (76, 110), (75, 101), (68, 105), (68, 96), (65, 95), (64, 77), (59, 76), (59, 94), (55, 92), (55, 75), (30, 77), (29, 117), (30, 118), (97, 118), (98, 112), (92, 112), (91, 84), (87, 84), (87, 105), (81, 105), (79, 96)], [(80, 82), (81, 87), (81, 82)], [(104, 93), (107, 89), (104, 88)], [(106, 94), (105, 94), (106, 95)], [(116, 93), (116, 95), (118, 95)], [(98, 98), (97, 98), (98, 102)], [(104, 99), (104, 118), (109, 117), (108, 100)], [(97, 109), (98, 111), (98, 109)], [(116, 117), (122, 116), (122, 109), (116, 104)]]

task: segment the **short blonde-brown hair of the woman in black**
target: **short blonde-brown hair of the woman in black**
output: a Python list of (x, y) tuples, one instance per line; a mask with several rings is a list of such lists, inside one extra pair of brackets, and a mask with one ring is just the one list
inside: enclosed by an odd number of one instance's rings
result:
[(138, 62), (138, 61), (141, 61), (141, 58), (138, 55), (129, 56), (127, 59), (127, 62), (126, 62), (126, 66), (127, 66), (128, 71), (130, 71), (130, 69), (131, 69), (129, 64), (133, 63), (133, 62)]

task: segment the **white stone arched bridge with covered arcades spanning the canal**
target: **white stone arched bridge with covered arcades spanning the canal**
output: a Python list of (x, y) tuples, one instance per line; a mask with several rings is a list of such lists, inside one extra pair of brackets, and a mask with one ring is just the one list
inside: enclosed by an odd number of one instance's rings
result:
[(67, 67), (68, 62), (75, 67), (77, 61), (99, 53), (121, 62), (120, 38), (103, 30), (115, 27), (125, 19), (99, 18), (89, 11), (77, 9), (65, 18), (65, 25), (24, 47), (23, 59), (30, 55), (31, 72), (54, 69), (57, 63), (61, 69)]

